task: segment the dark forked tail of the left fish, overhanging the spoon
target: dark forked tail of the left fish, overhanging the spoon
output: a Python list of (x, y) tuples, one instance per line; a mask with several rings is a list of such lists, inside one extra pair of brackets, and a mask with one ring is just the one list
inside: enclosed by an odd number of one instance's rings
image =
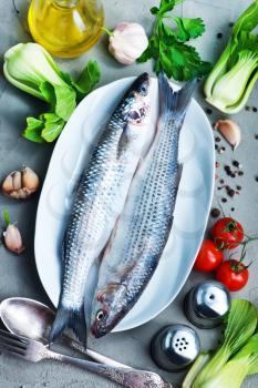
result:
[(86, 347), (87, 330), (85, 321), (84, 305), (80, 309), (59, 307), (54, 323), (51, 327), (49, 341), (52, 344), (65, 328), (71, 328), (78, 339)]

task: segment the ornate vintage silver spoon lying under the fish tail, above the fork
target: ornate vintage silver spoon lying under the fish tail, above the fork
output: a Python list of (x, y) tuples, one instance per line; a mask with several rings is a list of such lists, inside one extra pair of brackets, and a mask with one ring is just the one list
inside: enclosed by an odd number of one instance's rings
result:
[[(0, 304), (0, 317), (7, 329), (18, 336), (40, 340), (49, 345), (49, 333), (54, 320), (54, 312), (40, 302), (14, 297), (8, 298)], [(130, 368), (112, 358), (100, 355), (92, 349), (85, 349), (79, 341), (64, 335), (62, 343), (91, 357), (97, 363), (110, 367)]]

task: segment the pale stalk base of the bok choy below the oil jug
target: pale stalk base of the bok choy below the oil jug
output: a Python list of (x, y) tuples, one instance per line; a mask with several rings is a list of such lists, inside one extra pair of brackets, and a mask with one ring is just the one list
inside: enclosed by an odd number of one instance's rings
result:
[(37, 43), (19, 43), (9, 49), (3, 73), (14, 86), (42, 100), (45, 100), (39, 88), (42, 82), (68, 86), (52, 57)]

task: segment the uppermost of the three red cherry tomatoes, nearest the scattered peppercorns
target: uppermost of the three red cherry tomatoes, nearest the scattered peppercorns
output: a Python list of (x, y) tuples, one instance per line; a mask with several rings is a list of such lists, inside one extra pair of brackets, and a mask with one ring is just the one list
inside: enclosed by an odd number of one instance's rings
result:
[(211, 231), (215, 243), (223, 249), (234, 249), (244, 239), (244, 228), (241, 224), (231, 217), (218, 219)]

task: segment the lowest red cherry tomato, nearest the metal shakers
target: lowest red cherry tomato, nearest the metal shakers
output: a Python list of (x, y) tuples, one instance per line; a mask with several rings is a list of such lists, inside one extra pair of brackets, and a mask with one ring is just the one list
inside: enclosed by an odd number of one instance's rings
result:
[(231, 292), (244, 288), (248, 278), (248, 268), (244, 263), (236, 259), (224, 262), (216, 272), (216, 279)]

